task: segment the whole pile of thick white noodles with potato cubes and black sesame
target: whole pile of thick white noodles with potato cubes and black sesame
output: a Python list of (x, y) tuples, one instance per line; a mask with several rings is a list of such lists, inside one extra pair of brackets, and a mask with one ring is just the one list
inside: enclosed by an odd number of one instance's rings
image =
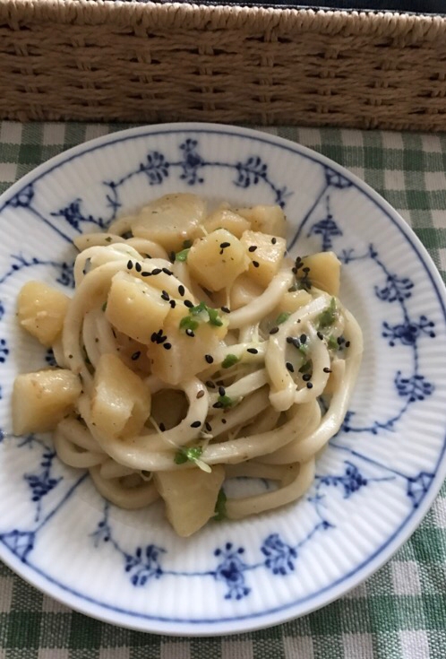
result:
[[(208, 214), (178, 194), (77, 238), (73, 298), (39, 282), (19, 296), (58, 368), (16, 378), (14, 433), (53, 430), (106, 499), (161, 497), (181, 535), (301, 497), (347, 411), (362, 334), (336, 256), (292, 260), (284, 234), (279, 207)], [(240, 476), (277, 487), (229, 497)]]

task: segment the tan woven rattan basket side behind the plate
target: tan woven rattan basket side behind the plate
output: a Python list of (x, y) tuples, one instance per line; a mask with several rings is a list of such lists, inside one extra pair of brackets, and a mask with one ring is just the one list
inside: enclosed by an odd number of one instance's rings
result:
[(0, 0), (0, 116), (446, 129), (446, 19)]

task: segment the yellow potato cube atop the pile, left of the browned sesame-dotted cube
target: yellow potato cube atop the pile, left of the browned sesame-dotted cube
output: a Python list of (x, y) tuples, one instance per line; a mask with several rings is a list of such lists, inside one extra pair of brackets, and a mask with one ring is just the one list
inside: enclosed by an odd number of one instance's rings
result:
[(230, 286), (248, 269), (249, 263), (240, 240), (225, 229), (212, 231), (209, 236), (196, 240), (187, 257), (191, 274), (208, 290)]

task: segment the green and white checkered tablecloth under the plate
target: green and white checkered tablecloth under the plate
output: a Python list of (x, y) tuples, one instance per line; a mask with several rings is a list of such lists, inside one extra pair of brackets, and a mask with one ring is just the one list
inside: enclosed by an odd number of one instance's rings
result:
[[(124, 125), (0, 123), (0, 192)], [(446, 134), (271, 128), (363, 178), (412, 226), (446, 278)], [(440, 356), (439, 356), (440, 357)], [(446, 487), (404, 547), (336, 603), (272, 629), (170, 638), (74, 613), (0, 565), (0, 659), (446, 659)]]

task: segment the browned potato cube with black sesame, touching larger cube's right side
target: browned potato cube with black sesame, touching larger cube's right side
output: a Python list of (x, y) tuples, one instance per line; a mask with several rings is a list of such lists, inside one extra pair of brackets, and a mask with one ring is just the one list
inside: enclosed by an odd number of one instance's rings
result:
[[(284, 238), (277, 238), (261, 231), (244, 231), (240, 240), (251, 259), (248, 274), (253, 280), (266, 288), (271, 279), (279, 272), (280, 264), (287, 245)], [(250, 251), (255, 247), (254, 251)]]

